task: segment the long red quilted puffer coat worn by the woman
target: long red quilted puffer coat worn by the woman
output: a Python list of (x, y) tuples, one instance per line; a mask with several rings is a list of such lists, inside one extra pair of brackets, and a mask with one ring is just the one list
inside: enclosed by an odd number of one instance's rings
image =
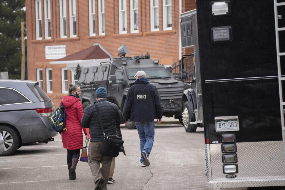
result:
[[(83, 148), (82, 126), (80, 124), (83, 116), (82, 104), (75, 96), (63, 96), (61, 102), (63, 102), (66, 112), (66, 131), (61, 133), (63, 148), (68, 150), (81, 149)], [(83, 131), (87, 134), (85, 128), (83, 128)]]

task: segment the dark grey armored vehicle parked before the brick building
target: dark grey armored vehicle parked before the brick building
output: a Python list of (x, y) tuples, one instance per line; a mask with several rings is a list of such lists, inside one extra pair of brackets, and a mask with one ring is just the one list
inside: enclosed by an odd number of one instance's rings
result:
[[(118, 58), (110, 58), (110, 61), (97, 61), (88, 63), (87, 66), (77, 66), (78, 84), (80, 85), (83, 109), (93, 102), (96, 102), (96, 89), (103, 86), (107, 89), (108, 95), (113, 95), (123, 110), (126, 95), (129, 90), (129, 83), (135, 81), (134, 75), (137, 71), (143, 70), (149, 82), (156, 86), (162, 105), (163, 115), (166, 117), (179, 118), (181, 121), (181, 96), (184, 83), (176, 80), (174, 75), (161, 64), (159, 60), (150, 59), (146, 53), (133, 57), (126, 57), (128, 54), (126, 45), (118, 49)], [(142, 113), (143, 114), (143, 113)], [(134, 122), (129, 122), (129, 129), (135, 129)]]

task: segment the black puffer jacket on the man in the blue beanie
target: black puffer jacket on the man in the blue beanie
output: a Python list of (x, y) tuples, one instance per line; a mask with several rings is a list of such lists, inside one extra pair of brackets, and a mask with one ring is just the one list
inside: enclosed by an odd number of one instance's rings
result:
[[(100, 112), (106, 137), (108, 135), (116, 134), (116, 127), (121, 124), (121, 114), (118, 106), (108, 102), (106, 99), (100, 99), (96, 104)], [(90, 128), (89, 133), (91, 142), (103, 142), (104, 134), (102, 132), (94, 103), (85, 108), (81, 120), (81, 126), (84, 128)]]

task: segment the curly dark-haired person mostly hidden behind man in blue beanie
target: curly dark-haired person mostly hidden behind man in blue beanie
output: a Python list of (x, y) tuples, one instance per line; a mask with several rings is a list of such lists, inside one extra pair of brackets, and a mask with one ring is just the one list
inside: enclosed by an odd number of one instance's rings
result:
[[(110, 96), (107, 96), (106, 99), (107, 99), (107, 101), (112, 102), (115, 105), (117, 105), (118, 108), (119, 108), (119, 111), (120, 111), (120, 106), (119, 106), (119, 103), (118, 103), (118, 101), (117, 101), (115, 96), (111, 96), (110, 95)], [(120, 111), (120, 115), (121, 115), (121, 120), (122, 120), (121, 124), (123, 124), (123, 123), (125, 123), (126, 120), (125, 120), (124, 116), (122, 115), (121, 111)], [(117, 125), (117, 132), (116, 132), (116, 134), (119, 137), (122, 137), (120, 125)], [(125, 149), (124, 149), (124, 145), (121, 146), (120, 152), (123, 152), (124, 155), (126, 155)], [(108, 183), (115, 183), (115, 180), (113, 179), (114, 170), (115, 170), (115, 157), (113, 157), (113, 159), (112, 159), (111, 168), (110, 168), (110, 176), (109, 176)]]

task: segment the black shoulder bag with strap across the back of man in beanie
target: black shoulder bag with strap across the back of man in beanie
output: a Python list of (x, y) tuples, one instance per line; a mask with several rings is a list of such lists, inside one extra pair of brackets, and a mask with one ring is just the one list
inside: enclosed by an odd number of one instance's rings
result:
[(117, 157), (119, 155), (119, 151), (121, 146), (124, 144), (124, 141), (122, 140), (121, 137), (119, 137), (116, 134), (113, 135), (108, 135), (107, 137), (105, 136), (105, 132), (103, 129), (101, 117), (100, 117), (100, 112), (96, 104), (94, 104), (98, 119), (104, 134), (104, 141), (102, 143), (102, 147), (100, 149), (100, 154), (104, 156), (110, 156), (110, 157)]

